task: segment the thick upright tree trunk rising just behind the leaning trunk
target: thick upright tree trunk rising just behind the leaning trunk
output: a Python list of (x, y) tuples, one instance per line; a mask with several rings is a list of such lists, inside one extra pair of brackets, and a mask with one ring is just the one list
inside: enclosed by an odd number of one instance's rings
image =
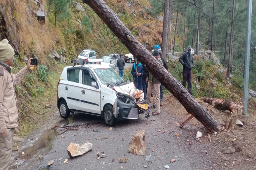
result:
[(166, 53), (167, 53), (167, 45), (169, 42), (169, 37), (168, 37), (168, 24), (169, 24), (169, 5), (170, 1), (169, 0), (165, 0), (164, 2), (164, 23), (163, 23), (163, 35), (162, 35), (162, 55), (164, 58), (166, 58)]

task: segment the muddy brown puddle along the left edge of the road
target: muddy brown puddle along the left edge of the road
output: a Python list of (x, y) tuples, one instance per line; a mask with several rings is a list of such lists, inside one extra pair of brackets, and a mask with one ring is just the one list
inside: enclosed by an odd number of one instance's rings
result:
[[(31, 144), (32, 146), (27, 147), (23, 150), (18, 155), (18, 158), (22, 160), (27, 160), (30, 159), (33, 155), (37, 154), (45, 154), (49, 152), (52, 148), (53, 140), (56, 137), (56, 130), (46, 130), (43, 132), (43, 134), (35, 139), (35, 142)], [(24, 152), (24, 155), (22, 155), (22, 152)]]

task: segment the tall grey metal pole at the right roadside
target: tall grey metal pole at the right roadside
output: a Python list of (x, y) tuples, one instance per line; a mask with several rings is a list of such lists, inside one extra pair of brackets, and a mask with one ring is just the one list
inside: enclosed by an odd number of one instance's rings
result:
[(247, 9), (247, 30), (246, 30), (246, 48), (245, 48), (245, 61), (244, 61), (244, 110), (243, 115), (247, 116), (247, 103), (248, 103), (248, 84), (249, 84), (249, 64), (250, 64), (250, 41), (251, 41), (251, 24), (252, 24), (252, 0), (248, 0)]

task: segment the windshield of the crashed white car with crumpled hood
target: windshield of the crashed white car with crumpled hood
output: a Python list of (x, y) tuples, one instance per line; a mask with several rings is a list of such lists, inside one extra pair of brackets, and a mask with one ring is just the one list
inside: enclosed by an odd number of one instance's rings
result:
[(123, 79), (112, 68), (94, 69), (100, 81), (105, 85), (118, 85), (123, 83)]

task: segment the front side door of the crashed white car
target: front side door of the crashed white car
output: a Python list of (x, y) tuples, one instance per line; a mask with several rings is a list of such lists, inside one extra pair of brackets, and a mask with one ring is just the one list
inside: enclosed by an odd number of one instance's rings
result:
[[(97, 87), (92, 86), (97, 82)], [(81, 110), (87, 113), (100, 114), (100, 86), (91, 69), (82, 69), (82, 84), (80, 88)]]

